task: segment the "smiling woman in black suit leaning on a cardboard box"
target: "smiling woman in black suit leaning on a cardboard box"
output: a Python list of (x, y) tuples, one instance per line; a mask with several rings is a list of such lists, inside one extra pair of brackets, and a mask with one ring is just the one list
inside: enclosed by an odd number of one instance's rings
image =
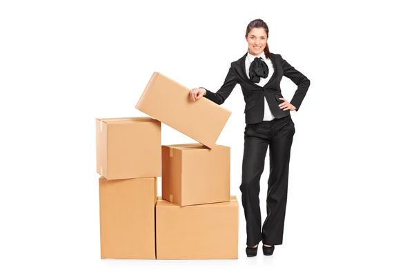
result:
[[(237, 83), (242, 88), (246, 103), (246, 128), (240, 190), (246, 217), (246, 255), (252, 257), (257, 255), (260, 241), (263, 242), (264, 255), (272, 255), (275, 245), (282, 244), (290, 148), (295, 134), (290, 111), (299, 110), (311, 81), (290, 66), (281, 55), (269, 52), (268, 26), (262, 19), (248, 24), (245, 37), (248, 52), (231, 63), (221, 88), (217, 92), (202, 87), (193, 88), (189, 96), (193, 101), (206, 97), (222, 104)], [(297, 85), (290, 102), (284, 99), (280, 89), (283, 76)], [(267, 217), (262, 226), (259, 181), (268, 148), (270, 175), (266, 199)]]

